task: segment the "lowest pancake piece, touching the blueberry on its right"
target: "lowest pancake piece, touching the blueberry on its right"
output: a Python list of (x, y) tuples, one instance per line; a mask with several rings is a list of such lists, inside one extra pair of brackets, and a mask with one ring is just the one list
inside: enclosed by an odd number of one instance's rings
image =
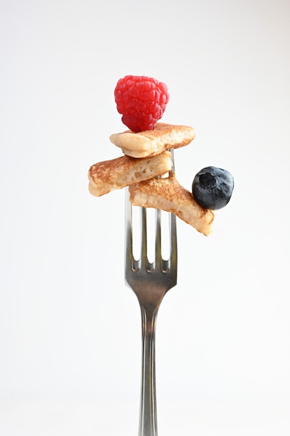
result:
[(179, 185), (173, 172), (167, 178), (154, 178), (131, 185), (129, 193), (133, 205), (173, 212), (206, 236), (212, 231), (214, 213), (202, 208), (191, 193)]

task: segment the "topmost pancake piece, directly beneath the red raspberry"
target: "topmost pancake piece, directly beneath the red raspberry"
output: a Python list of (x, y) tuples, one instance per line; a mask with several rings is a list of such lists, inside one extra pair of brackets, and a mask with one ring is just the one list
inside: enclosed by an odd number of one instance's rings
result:
[(139, 158), (158, 155), (165, 150), (170, 150), (170, 148), (187, 146), (194, 138), (195, 130), (193, 127), (156, 123), (153, 130), (138, 133), (127, 130), (111, 134), (110, 141), (115, 146), (122, 148), (125, 155)]

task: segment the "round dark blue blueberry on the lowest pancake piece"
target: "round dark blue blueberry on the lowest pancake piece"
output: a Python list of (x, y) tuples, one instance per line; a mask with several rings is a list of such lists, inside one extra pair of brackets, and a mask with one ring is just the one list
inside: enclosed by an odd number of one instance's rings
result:
[(207, 166), (193, 179), (193, 196), (203, 208), (211, 210), (224, 208), (229, 203), (233, 189), (232, 174), (216, 166)]

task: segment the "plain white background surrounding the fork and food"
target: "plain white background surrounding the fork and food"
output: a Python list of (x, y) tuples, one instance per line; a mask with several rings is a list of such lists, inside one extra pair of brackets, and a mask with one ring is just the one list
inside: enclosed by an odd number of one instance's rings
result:
[(0, 1), (0, 434), (136, 435), (140, 313), (124, 285), (120, 77), (165, 81), (195, 127), (179, 182), (221, 166), (232, 200), (204, 237), (178, 221), (157, 322), (160, 436), (290, 433), (290, 3)]

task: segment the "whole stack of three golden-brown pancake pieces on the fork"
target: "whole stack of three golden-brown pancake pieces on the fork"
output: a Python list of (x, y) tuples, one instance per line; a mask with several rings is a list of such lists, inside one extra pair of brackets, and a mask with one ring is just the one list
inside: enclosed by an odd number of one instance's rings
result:
[(111, 142), (124, 155), (90, 167), (90, 194), (102, 196), (129, 186), (133, 205), (175, 213), (200, 233), (209, 235), (214, 213), (202, 208), (171, 171), (170, 150), (186, 146), (194, 138), (193, 127), (165, 123), (157, 123), (154, 130), (112, 134)]

